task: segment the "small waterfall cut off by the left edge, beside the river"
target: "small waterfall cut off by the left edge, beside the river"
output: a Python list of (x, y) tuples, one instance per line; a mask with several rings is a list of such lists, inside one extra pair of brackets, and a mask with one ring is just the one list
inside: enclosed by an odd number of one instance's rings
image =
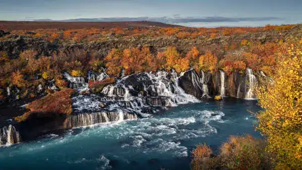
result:
[(21, 136), (13, 125), (0, 129), (0, 145), (11, 145), (21, 142)]

